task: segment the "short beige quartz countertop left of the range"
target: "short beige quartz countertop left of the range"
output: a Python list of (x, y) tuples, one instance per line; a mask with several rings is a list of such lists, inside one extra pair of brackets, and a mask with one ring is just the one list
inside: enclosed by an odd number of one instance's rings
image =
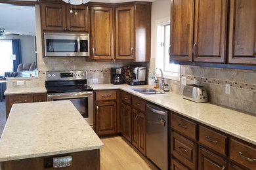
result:
[(13, 95), (13, 94), (26, 94), (26, 93), (46, 93), (45, 87), (38, 88), (7, 88), (5, 90), (5, 95)]

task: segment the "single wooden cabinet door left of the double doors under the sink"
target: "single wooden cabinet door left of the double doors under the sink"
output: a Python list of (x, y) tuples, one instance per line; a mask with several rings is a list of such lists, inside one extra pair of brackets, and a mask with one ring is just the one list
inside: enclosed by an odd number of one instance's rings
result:
[(121, 103), (121, 133), (131, 142), (131, 107)]

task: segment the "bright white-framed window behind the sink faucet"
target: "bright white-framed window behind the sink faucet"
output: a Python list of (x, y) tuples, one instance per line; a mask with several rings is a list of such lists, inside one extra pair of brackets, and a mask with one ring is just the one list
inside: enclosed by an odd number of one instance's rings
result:
[[(157, 48), (156, 48), (156, 67), (163, 71), (163, 76), (172, 80), (180, 80), (180, 65), (170, 63), (170, 22), (161, 21), (157, 24)], [(158, 69), (157, 76), (161, 76)]]

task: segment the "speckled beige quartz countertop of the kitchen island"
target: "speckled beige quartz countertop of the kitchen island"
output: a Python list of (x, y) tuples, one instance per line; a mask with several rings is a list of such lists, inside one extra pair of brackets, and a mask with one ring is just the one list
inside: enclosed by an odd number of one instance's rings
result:
[(0, 161), (102, 147), (71, 101), (14, 104), (0, 140)]

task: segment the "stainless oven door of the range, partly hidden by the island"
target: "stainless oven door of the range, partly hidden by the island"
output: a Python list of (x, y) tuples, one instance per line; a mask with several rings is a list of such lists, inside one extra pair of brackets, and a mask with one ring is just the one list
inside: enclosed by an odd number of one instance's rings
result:
[(49, 93), (47, 101), (70, 100), (76, 109), (93, 126), (93, 92)]

